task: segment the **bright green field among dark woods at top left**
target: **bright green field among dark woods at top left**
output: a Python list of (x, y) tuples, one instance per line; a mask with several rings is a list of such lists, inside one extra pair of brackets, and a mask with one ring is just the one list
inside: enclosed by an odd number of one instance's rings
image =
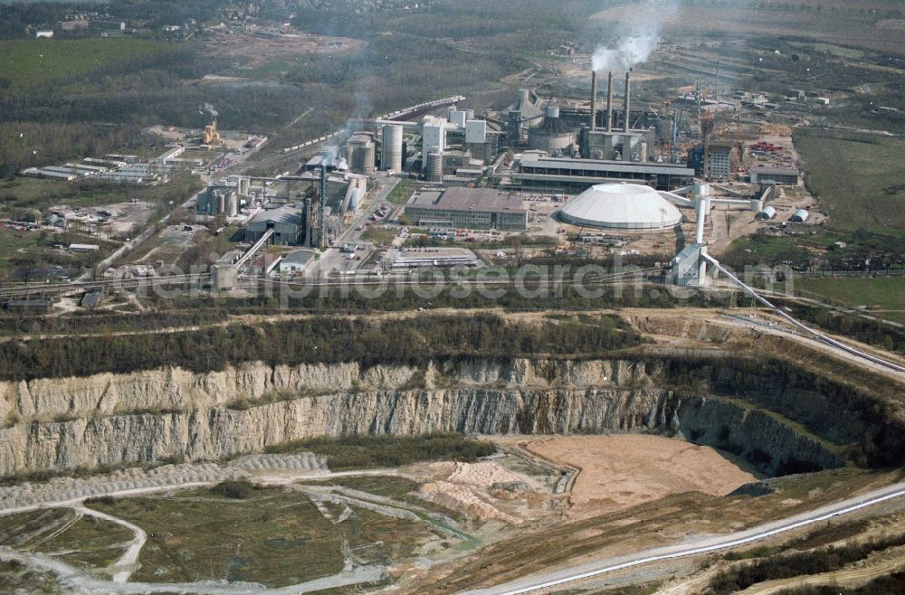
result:
[(167, 49), (142, 39), (31, 39), (0, 42), (0, 79), (32, 87), (138, 61)]

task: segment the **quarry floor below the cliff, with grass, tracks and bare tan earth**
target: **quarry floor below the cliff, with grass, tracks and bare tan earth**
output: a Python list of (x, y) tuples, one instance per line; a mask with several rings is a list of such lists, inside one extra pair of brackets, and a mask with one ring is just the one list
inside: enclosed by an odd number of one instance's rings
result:
[[(78, 480), (52, 480), (43, 491), (30, 488), (40, 504), (0, 511), (0, 562), (50, 574), (71, 592), (235, 593), (261, 590), (262, 577), (272, 592), (352, 584), (457, 592), (566, 561), (707, 539), (898, 479), (837, 469), (790, 481), (776, 494), (727, 498), (757, 476), (717, 450), (679, 439), (483, 439), (500, 453), (477, 463), (334, 474), (286, 468), (275, 456), (264, 465), (254, 459), (258, 464), (243, 463), (243, 473), (233, 474), (262, 486), (247, 501), (208, 491), (224, 477), (211, 463), (172, 466), (178, 468), (161, 474), (168, 483), (157, 486), (144, 486), (138, 473), (124, 484), (119, 474), (87, 502), (70, 497)], [(84, 481), (104, 485), (103, 477)], [(88, 517), (96, 534), (90, 540)], [(314, 574), (300, 577), (300, 563), (286, 562), (294, 555), (311, 561), (311, 552), (320, 556), (307, 567)], [(242, 572), (231, 566), (237, 561)], [(694, 576), (699, 566), (658, 565), (623, 580)], [(0, 580), (7, 572), (0, 565)], [(193, 572), (197, 579), (187, 580)]]

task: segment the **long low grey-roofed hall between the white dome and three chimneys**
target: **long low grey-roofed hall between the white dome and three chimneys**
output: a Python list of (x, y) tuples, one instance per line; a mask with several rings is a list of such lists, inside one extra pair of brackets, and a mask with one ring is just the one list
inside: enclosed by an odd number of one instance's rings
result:
[(572, 159), (526, 153), (517, 157), (510, 177), (512, 184), (522, 189), (565, 193), (579, 193), (595, 184), (630, 181), (657, 190), (672, 190), (691, 184), (694, 170), (684, 165)]

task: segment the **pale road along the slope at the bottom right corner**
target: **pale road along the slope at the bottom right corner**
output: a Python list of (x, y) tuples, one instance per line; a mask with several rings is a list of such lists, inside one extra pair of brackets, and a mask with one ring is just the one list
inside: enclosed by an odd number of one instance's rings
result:
[(786, 519), (761, 524), (757, 527), (736, 533), (701, 539), (696, 543), (684, 543), (666, 547), (644, 550), (615, 558), (607, 558), (598, 562), (588, 562), (561, 571), (547, 572), (532, 577), (511, 581), (489, 589), (471, 590), (467, 595), (519, 595), (546, 590), (570, 582), (583, 581), (609, 572), (622, 571), (627, 568), (665, 562), (676, 558), (696, 556), (702, 553), (717, 552), (740, 545), (754, 543), (773, 535), (783, 534), (810, 524), (821, 523), (834, 516), (850, 515), (872, 505), (878, 505), (905, 496), (905, 483), (886, 486), (869, 494), (856, 496), (826, 505), (808, 513), (790, 516)]

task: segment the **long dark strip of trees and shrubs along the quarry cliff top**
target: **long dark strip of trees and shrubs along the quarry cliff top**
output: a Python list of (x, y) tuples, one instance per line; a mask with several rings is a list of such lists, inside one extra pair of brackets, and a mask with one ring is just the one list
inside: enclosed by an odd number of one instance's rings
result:
[(424, 365), (433, 358), (594, 354), (639, 345), (619, 319), (519, 324), (499, 316), (418, 316), (384, 322), (319, 316), (193, 332), (100, 335), (0, 344), (0, 378), (130, 373), (166, 366), (193, 372), (262, 361), (270, 365), (358, 362)]

